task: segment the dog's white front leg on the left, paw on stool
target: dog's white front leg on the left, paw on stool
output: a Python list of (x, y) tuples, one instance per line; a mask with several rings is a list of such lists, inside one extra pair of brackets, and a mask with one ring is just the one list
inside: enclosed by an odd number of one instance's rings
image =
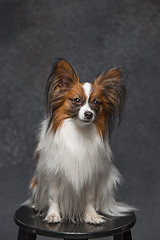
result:
[(45, 221), (48, 223), (59, 223), (61, 221), (60, 210), (59, 210), (59, 184), (55, 181), (50, 183), (49, 186), (49, 209)]

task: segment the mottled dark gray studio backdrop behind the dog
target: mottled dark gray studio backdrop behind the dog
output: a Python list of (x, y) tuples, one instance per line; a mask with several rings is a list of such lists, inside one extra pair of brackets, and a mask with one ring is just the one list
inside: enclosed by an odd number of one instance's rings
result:
[(108, 67), (128, 70), (125, 114), (112, 138), (124, 177), (118, 197), (139, 209), (133, 239), (159, 239), (160, 1), (0, 0), (1, 239), (16, 239), (13, 215), (28, 196), (57, 57), (70, 61), (81, 81)]

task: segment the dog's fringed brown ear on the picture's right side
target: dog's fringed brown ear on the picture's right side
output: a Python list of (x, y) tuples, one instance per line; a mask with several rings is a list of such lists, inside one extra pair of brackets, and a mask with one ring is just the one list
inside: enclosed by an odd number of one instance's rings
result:
[(95, 80), (95, 85), (100, 88), (103, 97), (109, 135), (121, 119), (126, 98), (126, 79), (127, 75), (124, 70), (113, 68), (100, 74)]

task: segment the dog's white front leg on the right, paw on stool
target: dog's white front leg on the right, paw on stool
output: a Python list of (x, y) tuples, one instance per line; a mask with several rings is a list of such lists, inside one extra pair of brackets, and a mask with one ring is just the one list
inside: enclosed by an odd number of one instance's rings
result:
[(105, 217), (99, 215), (94, 207), (95, 191), (93, 188), (88, 188), (86, 191), (86, 208), (84, 221), (90, 224), (101, 224), (105, 222)]

